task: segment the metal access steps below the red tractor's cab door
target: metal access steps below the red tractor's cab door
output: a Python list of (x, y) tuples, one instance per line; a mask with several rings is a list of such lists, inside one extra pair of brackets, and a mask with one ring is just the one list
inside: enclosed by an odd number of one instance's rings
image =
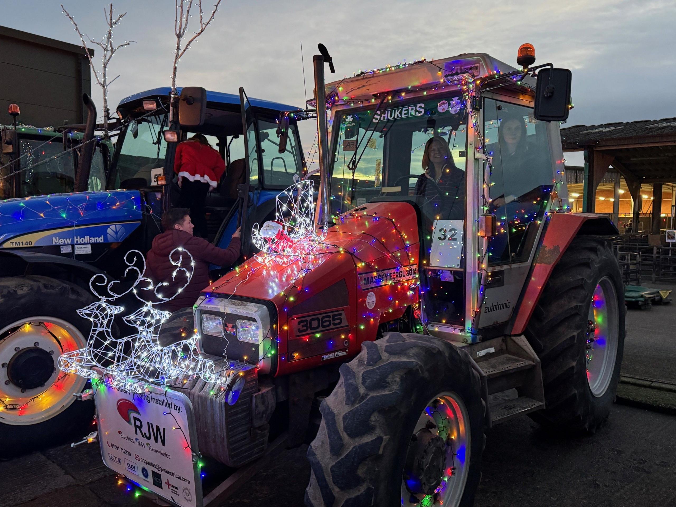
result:
[(525, 337), (493, 338), (463, 348), (481, 377), (489, 427), (544, 408), (540, 360)]

